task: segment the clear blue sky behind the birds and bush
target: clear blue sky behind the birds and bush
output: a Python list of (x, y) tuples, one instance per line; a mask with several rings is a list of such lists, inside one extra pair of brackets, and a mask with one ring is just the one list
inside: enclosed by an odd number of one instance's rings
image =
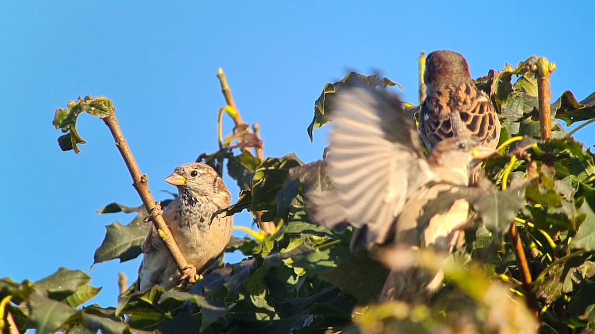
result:
[[(130, 219), (95, 210), (140, 203), (99, 119), (80, 118), (89, 144), (78, 156), (58, 148), (54, 111), (77, 96), (114, 101), (153, 193), (165, 198), (159, 190), (175, 189), (162, 179), (174, 167), (217, 149), (218, 67), (243, 118), (261, 124), (265, 155), (296, 152), (305, 162), (324, 147), (324, 131), (311, 144), (306, 127), (325, 83), (346, 70), (380, 70), (414, 102), (422, 50), (462, 52), (474, 77), (543, 55), (558, 65), (554, 98), (569, 89), (581, 100), (595, 90), (591, 1), (196, 3), (0, 2), (0, 276), (89, 269), (104, 225)], [(594, 130), (578, 138), (593, 144)], [(92, 285), (104, 286), (93, 301), (115, 305), (117, 272), (132, 281), (139, 261), (93, 267)]]

